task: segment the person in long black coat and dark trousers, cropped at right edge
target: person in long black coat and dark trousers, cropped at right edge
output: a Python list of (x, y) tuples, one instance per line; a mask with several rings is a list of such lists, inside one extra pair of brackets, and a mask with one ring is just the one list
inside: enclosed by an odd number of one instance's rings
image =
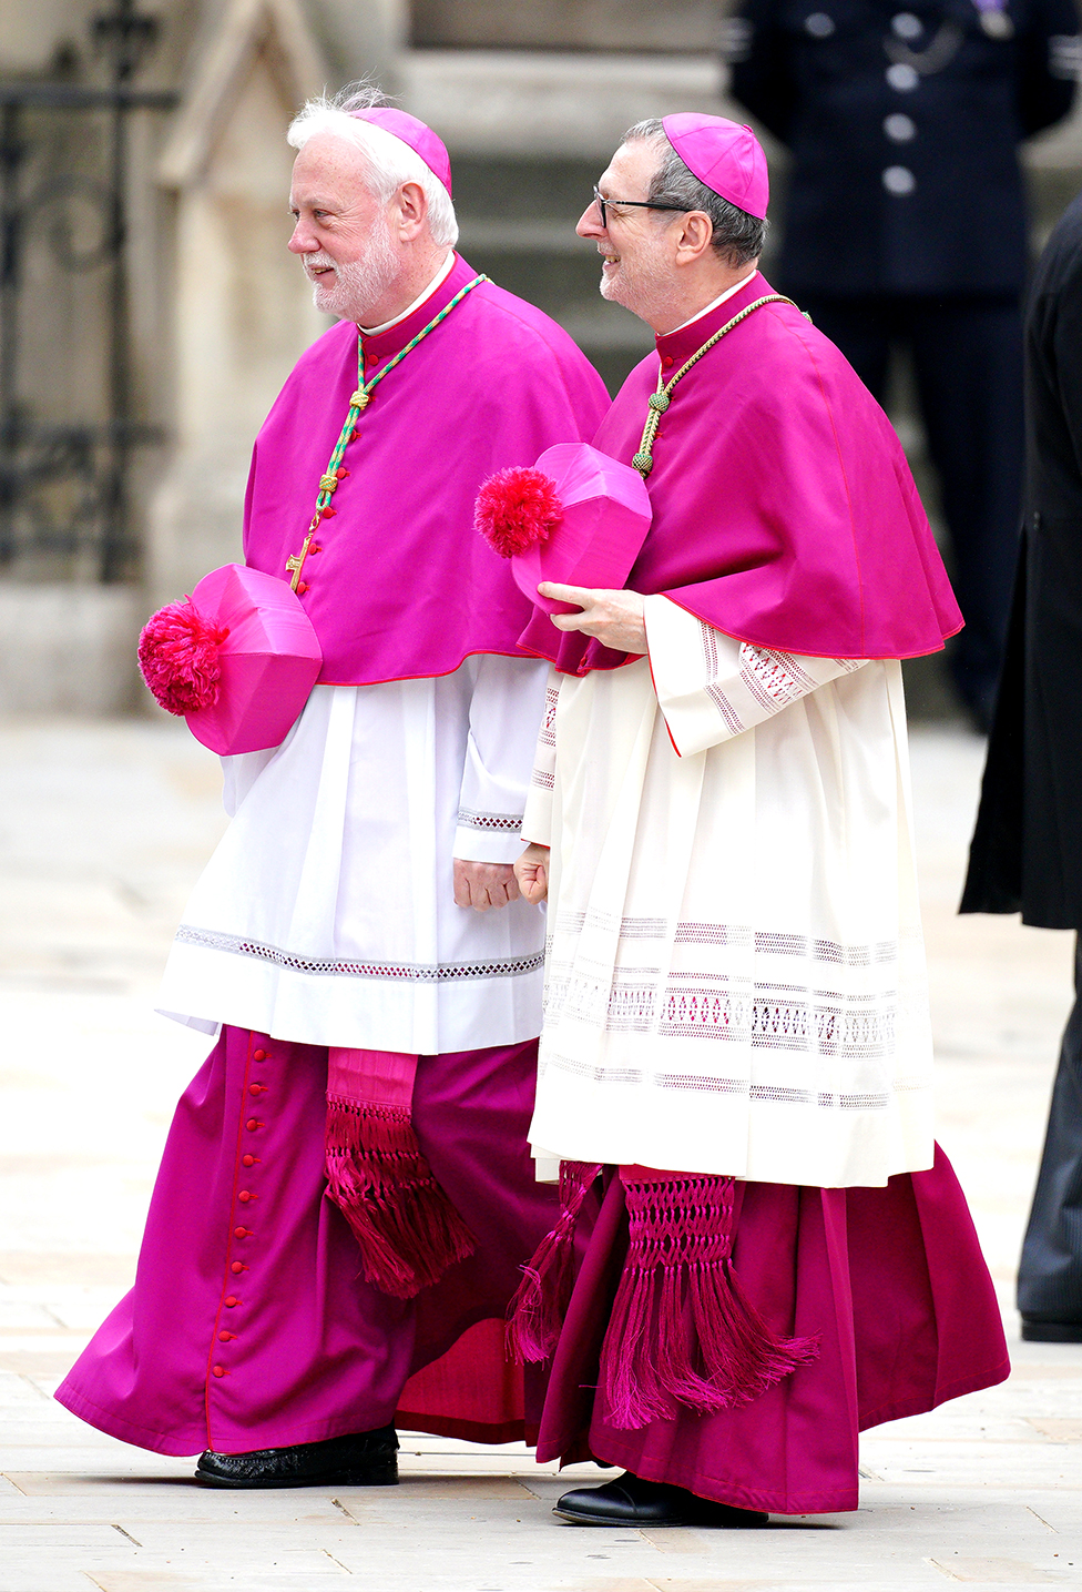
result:
[[(1026, 513), (963, 912), (1082, 930), (1082, 194), (1026, 317)], [(1082, 954), (1018, 1269), (1022, 1336), (1082, 1342)]]

